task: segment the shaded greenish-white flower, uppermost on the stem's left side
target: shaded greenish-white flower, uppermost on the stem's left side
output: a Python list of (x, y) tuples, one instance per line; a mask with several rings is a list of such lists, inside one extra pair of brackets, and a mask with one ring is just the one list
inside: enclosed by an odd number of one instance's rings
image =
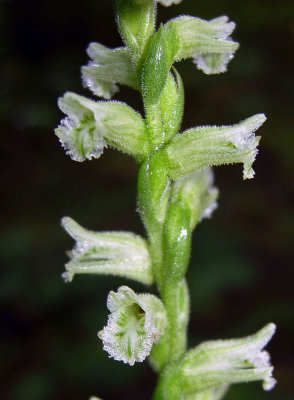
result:
[(95, 95), (111, 99), (118, 92), (117, 84), (138, 89), (136, 73), (127, 48), (109, 49), (100, 43), (90, 43), (87, 53), (92, 59), (82, 67), (82, 79)]

